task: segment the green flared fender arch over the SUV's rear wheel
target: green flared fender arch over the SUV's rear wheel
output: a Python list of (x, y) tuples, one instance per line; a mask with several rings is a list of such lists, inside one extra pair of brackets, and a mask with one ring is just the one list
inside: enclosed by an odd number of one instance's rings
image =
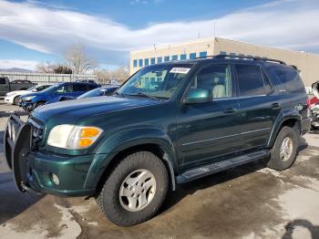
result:
[(299, 127), (300, 127), (302, 117), (296, 109), (282, 111), (278, 115), (277, 119), (274, 121), (273, 130), (272, 130), (271, 135), (269, 137), (269, 140), (267, 142), (268, 148), (273, 148), (273, 144), (277, 138), (279, 130), (281, 129), (283, 122), (286, 120), (297, 120), (297, 122), (299, 122)]

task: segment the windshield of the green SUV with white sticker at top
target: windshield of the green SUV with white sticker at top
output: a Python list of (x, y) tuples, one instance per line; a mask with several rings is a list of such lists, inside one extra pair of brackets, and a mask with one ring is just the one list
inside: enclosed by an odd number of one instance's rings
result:
[(118, 95), (170, 99), (193, 64), (163, 64), (142, 68), (118, 89)]

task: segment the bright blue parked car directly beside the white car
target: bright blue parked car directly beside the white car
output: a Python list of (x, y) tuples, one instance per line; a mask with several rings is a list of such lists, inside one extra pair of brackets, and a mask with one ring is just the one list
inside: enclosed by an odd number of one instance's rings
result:
[(19, 105), (30, 112), (33, 109), (57, 102), (61, 97), (77, 98), (88, 90), (98, 88), (100, 85), (95, 83), (66, 82), (53, 85), (41, 92), (29, 93), (20, 98)]

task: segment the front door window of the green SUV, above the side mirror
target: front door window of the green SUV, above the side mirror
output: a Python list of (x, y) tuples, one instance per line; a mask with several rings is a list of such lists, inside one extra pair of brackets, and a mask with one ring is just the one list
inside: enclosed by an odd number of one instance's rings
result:
[(227, 64), (213, 64), (202, 68), (193, 78), (190, 88), (207, 88), (213, 99), (233, 96), (232, 67)]

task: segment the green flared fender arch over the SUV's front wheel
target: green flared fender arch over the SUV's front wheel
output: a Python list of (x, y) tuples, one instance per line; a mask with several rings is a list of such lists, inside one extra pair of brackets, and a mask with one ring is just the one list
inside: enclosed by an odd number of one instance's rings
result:
[(125, 151), (131, 147), (143, 144), (156, 144), (160, 146), (165, 155), (163, 160), (169, 166), (169, 173), (172, 179), (172, 189), (175, 189), (175, 173), (177, 164), (175, 160), (175, 149), (170, 137), (159, 129), (134, 129), (119, 132), (109, 137), (103, 142), (96, 153), (91, 166), (87, 172), (85, 188), (94, 188), (98, 185), (104, 171), (107, 170), (108, 164), (120, 151)]

